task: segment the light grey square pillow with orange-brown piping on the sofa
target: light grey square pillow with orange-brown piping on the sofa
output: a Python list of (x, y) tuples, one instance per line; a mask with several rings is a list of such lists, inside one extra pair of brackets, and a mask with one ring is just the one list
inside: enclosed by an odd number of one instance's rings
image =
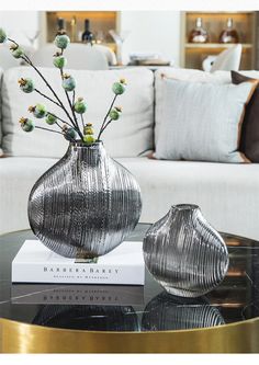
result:
[(238, 151), (245, 105), (257, 81), (238, 85), (162, 80), (157, 159), (248, 162)]

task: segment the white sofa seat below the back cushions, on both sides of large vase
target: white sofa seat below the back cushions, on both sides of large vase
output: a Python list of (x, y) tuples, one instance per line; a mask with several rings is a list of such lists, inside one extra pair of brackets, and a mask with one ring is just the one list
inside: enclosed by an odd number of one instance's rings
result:
[[(259, 239), (258, 164), (117, 159), (137, 179), (140, 221), (156, 221), (172, 204), (193, 203), (221, 231)], [(0, 233), (29, 228), (27, 197), (55, 159), (0, 159)]]

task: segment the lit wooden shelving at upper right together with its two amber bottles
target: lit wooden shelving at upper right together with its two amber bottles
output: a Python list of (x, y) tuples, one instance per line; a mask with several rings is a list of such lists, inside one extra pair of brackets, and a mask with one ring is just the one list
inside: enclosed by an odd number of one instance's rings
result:
[(240, 69), (255, 69), (257, 13), (182, 13), (181, 67), (203, 69), (207, 57), (213, 60), (221, 52), (239, 43), (243, 46)]

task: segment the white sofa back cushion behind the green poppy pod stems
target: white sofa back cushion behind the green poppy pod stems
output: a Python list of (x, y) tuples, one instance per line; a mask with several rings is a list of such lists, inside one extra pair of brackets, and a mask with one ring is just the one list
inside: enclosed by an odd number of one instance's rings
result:
[[(55, 68), (41, 69), (52, 83), (64, 104), (67, 105), (61, 88), (59, 71)], [(104, 146), (112, 157), (135, 157), (153, 149), (154, 124), (154, 75), (147, 69), (121, 69), (106, 71), (74, 70), (66, 72), (74, 76), (77, 82), (76, 94), (85, 98), (88, 103), (86, 122), (91, 122), (98, 133), (103, 117), (114, 96), (112, 84), (125, 78), (126, 92), (117, 98), (115, 105), (123, 109), (122, 116), (114, 121), (103, 134)], [(24, 133), (19, 119), (31, 116), (30, 105), (44, 103), (48, 111), (66, 119), (63, 111), (36, 92), (25, 94), (18, 84), (19, 78), (30, 77), (42, 92), (53, 98), (44, 82), (27, 67), (8, 70), (2, 84), (3, 112), (3, 150), (12, 156), (60, 157), (66, 151), (68, 142), (63, 136), (40, 129)], [(47, 127), (44, 119), (35, 119), (36, 125)], [(49, 127), (49, 126), (48, 126)], [(57, 129), (58, 130), (58, 129)]]

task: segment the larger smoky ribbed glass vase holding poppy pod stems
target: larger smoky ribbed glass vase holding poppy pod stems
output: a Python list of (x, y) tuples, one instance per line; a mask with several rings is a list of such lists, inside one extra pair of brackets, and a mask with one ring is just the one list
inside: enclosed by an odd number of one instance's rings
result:
[(117, 247), (142, 210), (134, 176), (101, 142), (70, 144), (32, 189), (29, 220), (35, 236), (67, 258), (94, 258)]

